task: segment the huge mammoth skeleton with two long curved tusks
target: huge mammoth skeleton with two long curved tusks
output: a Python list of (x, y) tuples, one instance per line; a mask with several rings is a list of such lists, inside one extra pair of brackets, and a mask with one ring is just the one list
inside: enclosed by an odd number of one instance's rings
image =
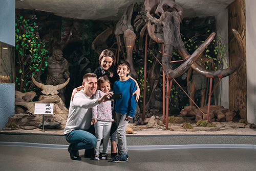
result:
[[(138, 11), (137, 16), (133, 17), (134, 10)], [(185, 47), (184, 42), (181, 39), (180, 35), (180, 22), (184, 18), (183, 9), (175, 3), (174, 0), (145, 0), (143, 4), (132, 4), (127, 7), (121, 19), (118, 21), (117, 26), (114, 30), (116, 35), (116, 40), (118, 44), (118, 50), (122, 50), (122, 41), (121, 35), (123, 35), (123, 41), (126, 48), (126, 60), (131, 65), (130, 74), (132, 77), (137, 78), (137, 73), (133, 64), (133, 50), (135, 49), (135, 40), (136, 33), (140, 33), (139, 37), (139, 50), (142, 50), (142, 41), (143, 36), (145, 35), (145, 30), (147, 30), (148, 35), (153, 41), (164, 45), (163, 54), (158, 53), (157, 59), (162, 61), (163, 71), (168, 78), (177, 78), (184, 74), (184, 72), (192, 67), (196, 72), (203, 76), (209, 76), (213, 78), (223, 78), (231, 75), (233, 72), (239, 69), (244, 61), (244, 45), (242, 38), (236, 30), (232, 30), (234, 37), (237, 39), (237, 42), (240, 47), (240, 52), (236, 62), (231, 66), (222, 70), (209, 70), (197, 64), (195, 61), (202, 54), (207, 45), (215, 37), (215, 33), (212, 33), (198, 48), (197, 50), (190, 55)], [(133, 25), (132, 25), (133, 23)], [(109, 32), (109, 36), (112, 32)], [(102, 37), (98, 36), (97, 39)], [(93, 44), (93, 47), (97, 47)], [(102, 49), (103, 50), (103, 49)], [(174, 64), (172, 61), (173, 50), (177, 50), (179, 55), (183, 58), (184, 62), (174, 69)], [(147, 50), (145, 50), (147, 51)], [(152, 69), (148, 75), (151, 80), (151, 87), (153, 87), (152, 92), (154, 91), (158, 80), (160, 78), (160, 65), (158, 62), (155, 62), (152, 66)], [(151, 98), (150, 98), (151, 99)]]

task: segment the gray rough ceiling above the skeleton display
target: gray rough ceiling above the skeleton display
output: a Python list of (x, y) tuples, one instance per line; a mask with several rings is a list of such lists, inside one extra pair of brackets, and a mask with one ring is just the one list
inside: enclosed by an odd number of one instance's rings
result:
[[(152, 0), (153, 1), (153, 0)], [(176, 0), (185, 17), (216, 16), (234, 0)], [(143, 0), (15, 0), (16, 8), (92, 20), (118, 20), (127, 6)]]

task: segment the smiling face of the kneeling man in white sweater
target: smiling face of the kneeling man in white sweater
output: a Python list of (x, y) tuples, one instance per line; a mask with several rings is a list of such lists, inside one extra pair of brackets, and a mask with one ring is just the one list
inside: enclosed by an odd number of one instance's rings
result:
[(95, 94), (97, 90), (97, 78), (95, 77), (88, 77), (87, 79), (84, 79), (82, 82), (83, 91), (91, 97), (93, 94)]

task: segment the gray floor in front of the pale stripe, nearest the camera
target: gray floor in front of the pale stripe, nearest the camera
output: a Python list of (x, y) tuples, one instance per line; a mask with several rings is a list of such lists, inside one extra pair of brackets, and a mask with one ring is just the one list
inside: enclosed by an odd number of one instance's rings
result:
[(256, 170), (256, 149), (129, 150), (125, 163), (71, 160), (67, 149), (0, 145), (0, 170)]

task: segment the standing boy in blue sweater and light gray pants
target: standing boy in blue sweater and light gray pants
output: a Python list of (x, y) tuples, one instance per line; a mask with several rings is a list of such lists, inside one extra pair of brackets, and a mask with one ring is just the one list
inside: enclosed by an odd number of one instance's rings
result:
[(127, 77), (130, 72), (130, 65), (127, 61), (121, 60), (117, 64), (119, 80), (114, 83), (114, 93), (122, 93), (122, 99), (115, 101), (115, 112), (117, 120), (117, 141), (119, 145), (119, 156), (110, 159), (112, 162), (126, 162), (126, 127), (135, 114), (136, 102), (133, 92), (137, 89), (135, 81)]

